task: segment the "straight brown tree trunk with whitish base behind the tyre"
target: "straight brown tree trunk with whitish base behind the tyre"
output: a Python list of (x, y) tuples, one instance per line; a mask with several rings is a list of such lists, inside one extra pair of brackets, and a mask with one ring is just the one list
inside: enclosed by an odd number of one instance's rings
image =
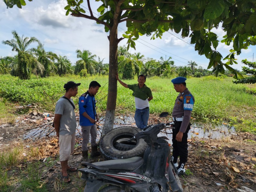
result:
[(102, 135), (113, 129), (116, 96), (117, 96), (117, 48), (118, 48), (117, 28), (110, 30), (109, 33), (109, 75), (108, 75), (108, 100), (105, 122), (102, 129)]

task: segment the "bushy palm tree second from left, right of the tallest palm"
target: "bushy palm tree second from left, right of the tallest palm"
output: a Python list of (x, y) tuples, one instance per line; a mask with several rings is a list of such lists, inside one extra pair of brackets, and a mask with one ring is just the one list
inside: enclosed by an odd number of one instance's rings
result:
[(58, 56), (53, 52), (46, 52), (44, 50), (44, 45), (38, 45), (37, 48), (32, 48), (31, 52), (35, 54), (38, 62), (43, 65), (44, 71), (41, 74), (41, 77), (50, 76), (50, 71), (54, 67), (54, 60), (58, 58)]

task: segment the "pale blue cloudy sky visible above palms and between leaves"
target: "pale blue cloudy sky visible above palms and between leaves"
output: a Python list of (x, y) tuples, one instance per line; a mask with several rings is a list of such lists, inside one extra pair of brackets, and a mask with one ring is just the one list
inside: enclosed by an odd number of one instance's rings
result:
[[(108, 63), (108, 33), (104, 32), (104, 26), (96, 24), (93, 20), (85, 18), (76, 18), (71, 15), (65, 16), (64, 7), (67, 5), (66, 0), (44, 0), (44, 1), (26, 1), (27, 5), (22, 9), (13, 7), (6, 9), (3, 1), (0, 1), (0, 42), (3, 40), (11, 40), (13, 38), (11, 32), (16, 30), (20, 36), (34, 36), (43, 44), (46, 51), (52, 51), (61, 56), (67, 56), (68, 59), (75, 63), (76, 49), (89, 50), (92, 54), (104, 59), (104, 63)], [(97, 13), (100, 2), (92, 2), (92, 10)], [(85, 7), (86, 4), (84, 4)], [(122, 23), (118, 28), (119, 38), (122, 36), (125, 24)], [(221, 29), (213, 29), (221, 40), (224, 32)], [(186, 66), (188, 61), (195, 61), (198, 66), (207, 68), (209, 60), (205, 56), (200, 56), (195, 51), (194, 46), (189, 44), (190, 39), (182, 39), (180, 34), (176, 34), (171, 30), (165, 32), (162, 39), (150, 40), (150, 37), (141, 36), (136, 41), (136, 50), (129, 51), (140, 52), (146, 58), (159, 60), (160, 57), (168, 59), (172, 57), (175, 66)], [(127, 40), (124, 39), (119, 46), (126, 45)], [(33, 44), (32, 44), (33, 45)], [(34, 44), (36, 46), (36, 44)], [(219, 43), (217, 51), (223, 58), (229, 53), (232, 46)], [(250, 46), (247, 50), (242, 50), (239, 56), (236, 56), (238, 65), (233, 68), (241, 70), (241, 60), (247, 59), (255, 61), (256, 46)], [(13, 56), (16, 52), (12, 52), (11, 47), (0, 43), (0, 56)]]

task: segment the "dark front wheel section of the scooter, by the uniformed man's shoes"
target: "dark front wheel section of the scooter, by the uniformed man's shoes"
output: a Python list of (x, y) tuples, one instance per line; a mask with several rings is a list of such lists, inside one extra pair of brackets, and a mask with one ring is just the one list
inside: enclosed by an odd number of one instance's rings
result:
[(177, 174), (177, 169), (174, 168), (172, 161), (169, 164), (169, 182), (172, 191), (183, 192), (183, 188), (180, 183), (179, 176)]

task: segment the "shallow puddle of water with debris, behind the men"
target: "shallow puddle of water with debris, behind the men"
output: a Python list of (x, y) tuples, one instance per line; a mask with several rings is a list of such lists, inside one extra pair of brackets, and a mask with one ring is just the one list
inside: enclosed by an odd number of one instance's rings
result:
[[(98, 124), (98, 136), (97, 141), (100, 139), (101, 130), (104, 125), (104, 118), (101, 118)], [(116, 116), (114, 121), (114, 128), (120, 126), (135, 126), (135, 121), (132, 116)], [(166, 136), (169, 139), (169, 142), (172, 143), (172, 129), (166, 129), (164, 132), (159, 133), (159, 136)], [(228, 137), (232, 134), (235, 134), (234, 127), (228, 127), (227, 125), (206, 125), (206, 124), (198, 124), (193, 123), (191, 129), (188, 132), (188, 139), (191, 138), (211, 138), (211, 139), (219, 139), (222, 137)], [(42, 137), (51, 137), (55, 135), (55, 130), (52, 127), (52, 123), (39, 126), (26, 134), (23, 135), (23, 139), (31, 139), (35, 140), (36, 138)], [(81, 137), (81, 126), (77, 124), (76, 136)]]

